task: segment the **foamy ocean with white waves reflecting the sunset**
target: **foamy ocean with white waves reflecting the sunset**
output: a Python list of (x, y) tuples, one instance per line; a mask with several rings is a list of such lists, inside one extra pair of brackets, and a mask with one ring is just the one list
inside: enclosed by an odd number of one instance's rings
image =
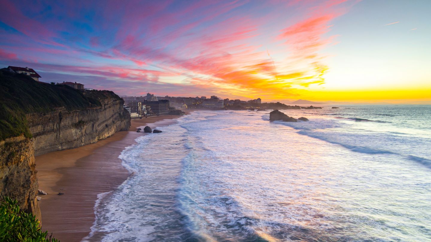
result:
[(431, 105), (195, 111), (120, 155), (84, 241), (431, 241)]

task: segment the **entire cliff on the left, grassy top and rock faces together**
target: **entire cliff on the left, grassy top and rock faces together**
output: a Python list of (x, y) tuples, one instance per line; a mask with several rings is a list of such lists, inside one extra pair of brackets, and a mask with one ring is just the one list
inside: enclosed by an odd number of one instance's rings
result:
[(112, 91), (75, 90), (0, 71), (0, 200), (17, 199), (40, 219), (34, 155), (128, 130), (123, 103)]

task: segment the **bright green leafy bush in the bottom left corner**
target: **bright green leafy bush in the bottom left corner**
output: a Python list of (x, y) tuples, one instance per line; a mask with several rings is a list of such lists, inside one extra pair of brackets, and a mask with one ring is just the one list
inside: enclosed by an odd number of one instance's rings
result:
[(4, 242), (59, 242), (42, 232), (39, 221), (31, 213), (19, 210), (17, 201), (4, 197), (0, 205), (0, 241)]

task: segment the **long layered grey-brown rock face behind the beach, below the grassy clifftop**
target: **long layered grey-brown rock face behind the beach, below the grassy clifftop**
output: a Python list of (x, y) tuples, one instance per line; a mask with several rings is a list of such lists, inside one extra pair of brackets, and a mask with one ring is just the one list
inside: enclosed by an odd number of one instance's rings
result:
[(34, 154), (84, 146), (128, 130), (130, 115), (123, 103), (122, 99), (109, 98), (101, 100), (100, 107), (72, 111), (57, 108), (45, 114), (27, 114), (34, 137)]

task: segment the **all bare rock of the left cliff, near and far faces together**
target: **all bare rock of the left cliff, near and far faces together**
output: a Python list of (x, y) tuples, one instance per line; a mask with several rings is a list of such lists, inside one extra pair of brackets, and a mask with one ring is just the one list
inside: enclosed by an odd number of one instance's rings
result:
[(41, 220), (34, 156), (95, 143), (130, 127), (122, 99), (112, 95), (100, 103), (86, 109), (27, 114), (33, 138), (21, 135), (0, 141), (0, 200), (3, 196), (17, 199), (21, 209)]

